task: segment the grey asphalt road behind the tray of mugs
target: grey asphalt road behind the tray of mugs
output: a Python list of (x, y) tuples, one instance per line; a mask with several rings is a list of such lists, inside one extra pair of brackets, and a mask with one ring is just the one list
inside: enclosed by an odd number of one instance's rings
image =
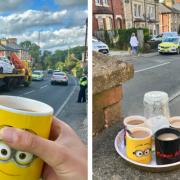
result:
[[(134, 78), (123, 85), (122, 102), (124, 116), (143, 115), (143, 97), (148, 91), (165, 91), (170, 97), (171, 115), (178, 114), (177, 100), (180, 95), (180, 55), (156, 55), (138, 57), (129, 61), (134, 64)], [(177, 98), (176, 98), (177, 97)], [(176, 100), (176, 103), (173, 101)]]

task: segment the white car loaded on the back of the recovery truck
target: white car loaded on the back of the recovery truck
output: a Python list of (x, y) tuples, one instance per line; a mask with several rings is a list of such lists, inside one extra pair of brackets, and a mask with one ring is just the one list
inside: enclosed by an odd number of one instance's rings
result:
[(7, 57), (0, 57), (0, 74), (14, 73), (15, 67)]

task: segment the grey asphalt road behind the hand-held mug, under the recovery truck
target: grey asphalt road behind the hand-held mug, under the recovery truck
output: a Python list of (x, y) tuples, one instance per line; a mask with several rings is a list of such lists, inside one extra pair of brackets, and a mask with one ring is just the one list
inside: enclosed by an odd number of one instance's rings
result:
[(19, 86), (10, 92), (0, 90), (1, 95), (22, 96), (49, 104), (54, 114), (68, 123), (87, 142), (86, 103), (76, 103), (79, 86), (77, 80), (69, 76), (69, 85), (51, 85), (50, 77), (43, 81), (32, 81), (30, 87)]

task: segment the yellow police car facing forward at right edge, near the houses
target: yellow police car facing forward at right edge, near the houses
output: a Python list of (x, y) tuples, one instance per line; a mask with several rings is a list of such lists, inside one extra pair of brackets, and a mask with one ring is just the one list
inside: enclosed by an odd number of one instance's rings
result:
[(177, 53), (180, 54), (180, 36), (166, 37), (162, 43), (158, 45), (158, 52), (163, 53)]

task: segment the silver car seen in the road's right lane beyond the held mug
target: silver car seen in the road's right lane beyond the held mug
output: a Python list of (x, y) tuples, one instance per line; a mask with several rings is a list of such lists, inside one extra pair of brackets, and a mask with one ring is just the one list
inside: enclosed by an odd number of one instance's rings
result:
[(53, 75), (51, 77), (51, 84), (64, 84), (68, 85), (68, 76), (65, 72), (53, 72)]

